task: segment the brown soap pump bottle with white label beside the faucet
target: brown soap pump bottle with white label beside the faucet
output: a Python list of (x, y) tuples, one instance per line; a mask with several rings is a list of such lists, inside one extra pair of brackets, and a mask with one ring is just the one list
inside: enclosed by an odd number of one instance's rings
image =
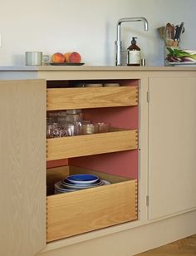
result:
[(136, 44), (137, 37), (132, 37), (131, 45), (127, 48), (127, 66), (140, 66), (140, 47)]

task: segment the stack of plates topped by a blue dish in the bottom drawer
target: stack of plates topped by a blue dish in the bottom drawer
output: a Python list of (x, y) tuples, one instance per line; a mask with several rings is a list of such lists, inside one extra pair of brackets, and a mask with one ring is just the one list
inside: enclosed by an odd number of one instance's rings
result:
[(55, 194), (73, 192), (95, 188), (101, 185), (109, 185), (107, 180), (100, 180), (96, 175), (71, 175), (65, 180), (60, 180), (55, 183)]

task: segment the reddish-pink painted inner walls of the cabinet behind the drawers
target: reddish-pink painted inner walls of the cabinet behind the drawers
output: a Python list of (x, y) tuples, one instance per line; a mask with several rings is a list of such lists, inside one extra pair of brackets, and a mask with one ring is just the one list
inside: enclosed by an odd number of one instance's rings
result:
[[(61, 86), (65, 84), (80, 83), (81, 81), (51, 81), (49, 86)], [(84, 82), (84, 81), (83, 81)], [(88, 81), (103, 82), (103, 81)], [(105, 81), (104, 81), (105, 82)], [(139, 86), (139, 80), (110, 80), (106, 82), (119, 82), (120, 86)], [(111, 127), (138, 130), (139, 129), (139, 107), (138, 106), (120, 106), (105, 107), (82, 110), (84, 120), (92, 122), (107, 122)], [(100, 155), (89, 155), (75, 157), (65, 160), (47, 161), (47, 168), (75, 165), (86, 169), (97, 170), (112, 175), (120, 175), (128, 178), (138, 179), (138, 150), (127, 150), (115, 153)]]

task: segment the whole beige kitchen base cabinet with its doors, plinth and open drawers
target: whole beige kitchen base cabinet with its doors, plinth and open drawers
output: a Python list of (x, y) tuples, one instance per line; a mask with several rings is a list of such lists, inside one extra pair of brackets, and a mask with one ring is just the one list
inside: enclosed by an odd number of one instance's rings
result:
[[(0, 82), (1, 254), (134, 255), (195, 234), (195, 69), (34, 72)], [(120, 86), (71, 87), (81, 81)], [(69, 109), (112, 131), (48, 139), (46, 181), (46, 113)], [(111, 184), (54, 194), (81, 172)]]

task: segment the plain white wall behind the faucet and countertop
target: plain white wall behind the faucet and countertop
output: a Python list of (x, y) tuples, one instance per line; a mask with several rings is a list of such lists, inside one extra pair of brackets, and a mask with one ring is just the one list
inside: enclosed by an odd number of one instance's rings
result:
[(181, 47), (196, 49), (195, 0), (0, 0), (0, 65), (25, 65), (26, 51), (80, 52), (87, 65), (114, 65), (116, 23), (121, 17), (146, 17), (122, 25), (125, 47), (131, 37), (149, 66), (164, 65), (164, 42), (157, 27), (185, 22)]

